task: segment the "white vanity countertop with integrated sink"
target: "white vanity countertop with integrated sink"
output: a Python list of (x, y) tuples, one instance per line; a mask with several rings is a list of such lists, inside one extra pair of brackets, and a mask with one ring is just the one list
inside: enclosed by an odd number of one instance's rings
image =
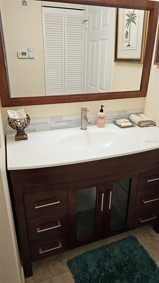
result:
[[(65, 143), (67, 136), (74, 134), (88, 138), (91, 132), (104, 133), (107, 139), (108, 131), (125, 135), (122, 143), (102, 147), (76, 148)], [(104, 128), (89, 126), (87, 130), (68, 128), (27, 133), (28, 140), (15, 141), (14, 135), (7, 135), (7, 168), (8, 170), (42, 168), (75, 164), (92, 160), (128, 155), (159, 148), (158, 127), (119, 128), (114, 124), (106, 124)], [(118, 135), (118, 134), (117, 134)], [(61, 142), (62, 141), (62, 142)], [(100, 142), (100, 141), (99, 141)]]

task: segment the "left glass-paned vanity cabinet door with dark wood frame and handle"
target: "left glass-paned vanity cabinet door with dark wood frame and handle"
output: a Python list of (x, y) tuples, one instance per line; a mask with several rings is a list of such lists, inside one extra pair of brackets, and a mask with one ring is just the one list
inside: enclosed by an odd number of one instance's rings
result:
[(105, 183), (68, 189), (69, 248), (102, 239)]

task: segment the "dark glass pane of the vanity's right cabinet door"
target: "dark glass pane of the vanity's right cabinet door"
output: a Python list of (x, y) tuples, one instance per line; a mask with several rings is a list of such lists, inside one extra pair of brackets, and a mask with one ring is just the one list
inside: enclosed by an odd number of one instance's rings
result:
[(131, 179), (113, 183), (110, 231), (126, 226)]

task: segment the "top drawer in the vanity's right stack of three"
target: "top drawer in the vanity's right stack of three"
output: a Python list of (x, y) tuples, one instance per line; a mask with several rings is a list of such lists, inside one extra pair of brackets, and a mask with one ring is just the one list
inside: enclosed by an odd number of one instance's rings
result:
[(138, 191), (159, 187), (159, 168), (139, 174)]

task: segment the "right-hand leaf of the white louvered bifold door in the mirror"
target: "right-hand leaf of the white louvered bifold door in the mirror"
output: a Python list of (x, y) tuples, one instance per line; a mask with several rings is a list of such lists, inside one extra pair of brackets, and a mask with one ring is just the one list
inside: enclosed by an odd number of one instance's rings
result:
[(65, 10), (65, 93), (83, 93), (83, 11)]

